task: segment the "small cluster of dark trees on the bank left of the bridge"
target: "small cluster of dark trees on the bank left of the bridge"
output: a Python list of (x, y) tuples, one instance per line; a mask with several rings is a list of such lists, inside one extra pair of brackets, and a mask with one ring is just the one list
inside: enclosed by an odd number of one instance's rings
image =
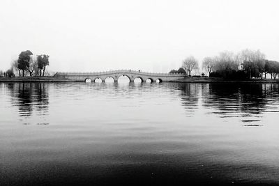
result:
[(45, 76), (45, 70), (50, 65), (49, 58), (50, 56), (46, 54), (33, 56), (30, 50), (21, 52), (18, 59), (11, 63), (10, 69), (6, 72), (0, 70), (0, 77), (15, 77), (15, 71), (20, 77), (24, 77), (24, 72), (29, 73), (29, 76)]

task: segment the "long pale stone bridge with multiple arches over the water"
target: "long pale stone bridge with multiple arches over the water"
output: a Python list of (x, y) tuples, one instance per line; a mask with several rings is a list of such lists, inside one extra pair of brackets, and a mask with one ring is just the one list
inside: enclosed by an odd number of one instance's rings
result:
[(114, 82), (117, 82), (121, 76), (127, 76), (130, 79), (130, 82), (134, 82), (136, 78), (142, 79), (142, 82), (146, 82), (147, 79), (150, 79), (151, 82), (156, 82), (157, 79), (160, 82), (172, 82), (186, 77), (186, 75), (180, 73), (151, 73), (141, 72), (140, 70), (111, 70), (107, 72), (57, 72), (54, 75), (54, 77), (66, 78), (76, 82), (85, 82), (86, 79), (91, 79), (92, 82), (95, 82), (96, 79), (102, 79), (102, 82), (105, 82), (107, 77), (112, 77)]

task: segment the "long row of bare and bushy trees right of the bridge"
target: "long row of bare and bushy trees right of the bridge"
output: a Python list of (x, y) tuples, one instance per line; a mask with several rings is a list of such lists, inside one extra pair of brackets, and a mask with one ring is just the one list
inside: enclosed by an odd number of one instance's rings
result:
[[(199, 63), (194, 56), (188, 56), (183, 60), (181, 68), (190, 76), (193, 70), (199, 72)], [(206, 70), (209, 77), (263, 79), (266, 74), (270, 74), (271, 79), (276, 79), (279, 75), (279, 62), (266, 59), (266, 55), (259, 49), (243, 49), (237, 54), (225, 51), (218, 56), (206, 56), (202, 60), (202, 70)], [(178, 70), (171, 70), (169, 73), (175, 72)]]

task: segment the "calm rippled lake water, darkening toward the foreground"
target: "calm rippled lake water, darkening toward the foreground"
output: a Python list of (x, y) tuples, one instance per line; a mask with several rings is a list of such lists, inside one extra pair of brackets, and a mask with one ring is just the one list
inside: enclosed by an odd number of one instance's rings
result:
[(0, 83), (0, 185), (279, 185), (279, 84)]

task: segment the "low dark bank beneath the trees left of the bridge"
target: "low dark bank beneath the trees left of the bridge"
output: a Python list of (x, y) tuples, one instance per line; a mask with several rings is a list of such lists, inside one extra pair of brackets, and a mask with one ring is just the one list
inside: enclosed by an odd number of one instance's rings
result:
[(74, 82), (66, 78), (45, 77), (0, 77), (0, 82)]

